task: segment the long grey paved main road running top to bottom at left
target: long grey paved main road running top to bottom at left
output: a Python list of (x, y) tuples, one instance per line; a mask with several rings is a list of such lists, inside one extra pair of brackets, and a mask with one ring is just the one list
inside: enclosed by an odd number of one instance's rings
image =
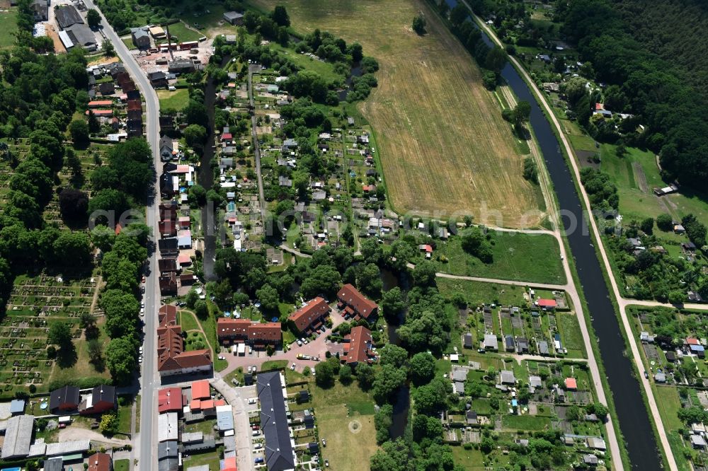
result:
[[(84, 0), (87, 8), (96, 8), (101, 12), (93, 0)], [(125, 47), (120, 37), (115, 33), (113, 28), (105, 21), (103, 13), (101, 13), (101, 28), (105, 37), (113, 42), (115, 52), (120, 57), (120, 60), (125, 65), (125, 69), (130, 73), (135, 80), (137, 88), (142, 93), (145, 102), (145, 113), (147, 115), (147, 142), (152, 148), (154, 166), (156, 170), (160, 168), (159, 159), (159, 100), (152, 86), (150, 86), (147, 76), (135, 62), (130, 51)], [(156, 187), (157, 188), (157, 187)], [(159, 190), (157, 190), (159, 191)], [(147, 219), (145, 223), (152, 228), (152, 238), (157, 243), (159, 234), (157, 233), (157, 206), (159, 204), (159, 193), (156, 197), (151, 197), (147, 206)], [(157, 415), (156, 415), (156, 390), (159, 387), (159, 377), (156, 371), (156, 319), (157, 310), (160, 306), (160, 295), (158, 291), (157, 277), (157, 255), (153, 252), (148, 260), (149, 269), (147, 280), (145, 283), (145, 295), (143, 301), (145, 303), (145, 337), (144, 337), (144, 361), (142, 362), (142, 375), (140, 383), (142, 389), (142, 403), (140, 409), (140, 433), (139, 439), (133, 441), (135, 454), (139, 457), (136, 470), (152, 471), (157, 469), (156, 455), (156, 433), (157, 433)], [(154, 436), (155, 435), (155, 436)]]

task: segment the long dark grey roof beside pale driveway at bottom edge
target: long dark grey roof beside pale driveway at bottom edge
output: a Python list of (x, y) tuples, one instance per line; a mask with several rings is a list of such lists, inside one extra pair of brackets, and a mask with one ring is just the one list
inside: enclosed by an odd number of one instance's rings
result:
[(256, 378), (258, 400), (261, 401), (261, 429), (265, 435), (265, 464), (268, 471), (295, 469), (280, 372), (260, 373)]

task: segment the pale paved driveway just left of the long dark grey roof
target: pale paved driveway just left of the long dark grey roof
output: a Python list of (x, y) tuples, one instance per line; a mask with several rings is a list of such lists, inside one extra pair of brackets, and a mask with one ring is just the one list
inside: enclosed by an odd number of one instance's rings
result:
[(234, 412), (234, 436), (236, 437), (236, 467), (239, 470), (253, 470), (251, 450), (251, 425), (249, 412), (258, 409), (257, 404), (249, 405), (249, 398), (256, 397), (256, 386), (232, 388), (221, 378), (210, 380), (215, 390), (221, 392)]

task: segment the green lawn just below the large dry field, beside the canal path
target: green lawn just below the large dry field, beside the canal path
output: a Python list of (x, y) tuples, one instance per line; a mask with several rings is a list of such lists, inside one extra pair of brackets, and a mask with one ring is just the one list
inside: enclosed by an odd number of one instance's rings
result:
[[(438, 244), (433, 256), (438, 272), (518, 280), (528, 283), (565, 284), (558, 242), (548, 234), (496, 233), (492, 236), (493, 262), (485, 264), (462, 250), (462, 239), (452, 237)], [(488, 300), (489, 301), (489, 300)]]

